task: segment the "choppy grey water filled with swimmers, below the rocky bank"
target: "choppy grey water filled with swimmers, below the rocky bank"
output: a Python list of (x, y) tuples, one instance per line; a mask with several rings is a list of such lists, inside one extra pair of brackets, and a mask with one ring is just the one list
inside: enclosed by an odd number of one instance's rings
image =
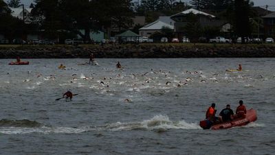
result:
[[(10, 61), (0, 60), (0, 154), (274, 154), (274, 58)], [(72, 102), (55, 101), (67, 89)], [(199, 128), (212, 102), (219, 112), (239, 99), (255, 123)]]

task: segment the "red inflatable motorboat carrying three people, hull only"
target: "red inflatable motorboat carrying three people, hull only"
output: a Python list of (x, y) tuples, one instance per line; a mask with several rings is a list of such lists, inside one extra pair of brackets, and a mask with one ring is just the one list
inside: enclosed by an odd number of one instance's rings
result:
[(228, 129), (235, 126), (245, 126), (248, 123), (257, 120), (257, 113), (256, 110), (250, 109), (247, 110), (245, 117), (237, 118), (232, 121), (226, 121), (224, 123), (217, 123), (211, 126), (211, 122), (209, 120), (203, 120), (199, 122), (199, 126), (203, 129), (212, 129), (212, 130), (219, 130), (219, 129)]

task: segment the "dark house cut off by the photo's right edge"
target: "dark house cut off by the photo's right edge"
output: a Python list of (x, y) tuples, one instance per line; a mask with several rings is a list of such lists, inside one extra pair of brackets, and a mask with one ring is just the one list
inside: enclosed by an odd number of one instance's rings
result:
[(265, 36), (275, 38), (275, 12), (262, 16)]

